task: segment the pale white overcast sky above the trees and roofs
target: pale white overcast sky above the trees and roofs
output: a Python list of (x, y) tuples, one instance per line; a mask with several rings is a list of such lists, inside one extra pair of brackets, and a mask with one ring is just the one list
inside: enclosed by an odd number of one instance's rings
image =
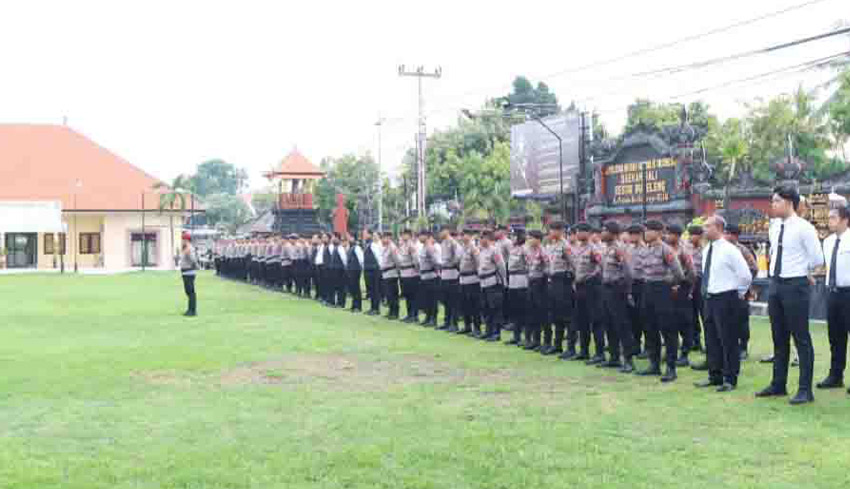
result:
[(296, 147), (316, 164), (376, 154), (383, 118), (381, 160), (393, 175), (417, 127), (416, 80), (400, 77), (399, 65), (442, 69), (423, 82), (429, 133), (508, 93), (517, 75), (599, 111), (615, 131), (636, 97), (703, 100), (731, 117), (756, 97), (815, 87), (834, 73), (683, 94), (848, 51), (850, 37), (677, 75), (628, 75), (827, 32), (850, 20), (845, 2), (819, 0), (576, 71), (806, 0), (0, 0), (0, 123), (67, 120), (164, 180), (221, 158), (260, 188), (262, 172)]

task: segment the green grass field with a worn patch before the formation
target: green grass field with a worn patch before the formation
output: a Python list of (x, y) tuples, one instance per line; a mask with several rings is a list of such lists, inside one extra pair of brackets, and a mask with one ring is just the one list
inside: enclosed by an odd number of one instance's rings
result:
[[(0, 277), (0, 488), (846, 486), (850, 396), (661, 385), (202, 275)], [(815, 380), (828, 368), (813, 325)], [(752, 357), (770, 333), (753, 322)], [(789, 389), (796, 389), (796, 370)]]

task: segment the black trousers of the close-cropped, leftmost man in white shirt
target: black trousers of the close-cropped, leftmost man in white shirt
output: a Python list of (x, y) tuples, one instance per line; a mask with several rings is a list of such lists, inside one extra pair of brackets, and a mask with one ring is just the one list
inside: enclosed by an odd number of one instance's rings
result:
[(705, 355), (708, 378), (738, 384), (741, 372), (741, 299), (736, 291), (705, 300)]

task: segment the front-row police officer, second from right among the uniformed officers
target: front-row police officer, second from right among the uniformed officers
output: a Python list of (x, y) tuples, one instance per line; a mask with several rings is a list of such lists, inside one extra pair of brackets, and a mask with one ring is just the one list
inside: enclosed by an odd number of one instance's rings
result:
[[(600, 308), (605, 330), (608, 334), (610, 357), (600, 367), (619, 368), (620, 372), (632, 373), (634, 336), (629, 322), (628, 296), (631, 290), (631, 265), (629, 251), (620, 242), (620, 225), (616, 221), (605, 223), (602, 232), (602, 307)], [(620, 354), (623, 363), (620, 363)]]

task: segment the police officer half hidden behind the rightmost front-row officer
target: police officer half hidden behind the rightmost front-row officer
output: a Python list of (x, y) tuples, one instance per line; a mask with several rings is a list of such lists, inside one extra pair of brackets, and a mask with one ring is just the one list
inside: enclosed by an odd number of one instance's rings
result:
[(678, 224), (667, 226), (667, 244), (673, 249), (684, 275), (682, 281), (673, 286), (673, 320), (679, 328), (679, 335), (682, 339), (682, 351), (678, 360), (676, 360), (676, 365), (686, 367), (690, 365), (688, 355), (693, 349), (694, 305), (691, 295), (694, 280), (696, 280), (696, 271), (691, 258), (692, 254), (682, 246), (682, 232), (682, 226)]

